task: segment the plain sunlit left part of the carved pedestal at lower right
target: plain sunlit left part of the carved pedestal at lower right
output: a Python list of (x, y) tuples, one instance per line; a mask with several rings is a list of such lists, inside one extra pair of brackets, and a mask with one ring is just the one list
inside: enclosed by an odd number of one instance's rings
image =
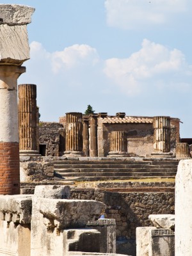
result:
[(148, 256), (150, 246), (150, 230), (156, 230), (156, 227), (136, 228), (136, 256)]

